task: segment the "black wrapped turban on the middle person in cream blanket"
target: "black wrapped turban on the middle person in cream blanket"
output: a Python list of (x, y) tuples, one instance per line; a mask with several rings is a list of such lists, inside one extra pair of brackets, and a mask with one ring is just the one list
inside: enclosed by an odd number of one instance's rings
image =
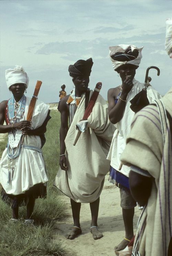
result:
[(90, 76), (90, 73), (92, 72), (92, 66), (92, 58), (89, 58), (88, 60), (78, 60), (74, 63), (74, 65), (69, 65), (69, 75), (72, 77), (79, 75)]

